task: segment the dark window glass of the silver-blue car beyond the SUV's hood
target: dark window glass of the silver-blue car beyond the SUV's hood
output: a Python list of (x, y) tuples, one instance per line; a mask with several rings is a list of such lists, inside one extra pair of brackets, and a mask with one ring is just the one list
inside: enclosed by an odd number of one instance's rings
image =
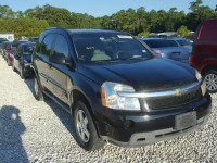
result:
[(143, 40), (150, 48), (179, 47), (174, 40), (150, 39)]

